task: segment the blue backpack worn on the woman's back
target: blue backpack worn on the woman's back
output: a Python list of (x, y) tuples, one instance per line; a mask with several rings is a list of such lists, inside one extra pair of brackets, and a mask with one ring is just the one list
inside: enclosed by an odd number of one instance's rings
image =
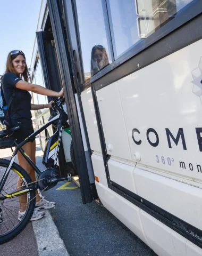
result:
[[(0, 83), (2, 81), (2, 77), (3, 76), (1, 76), (1, 78), (0, 78)], [(14, 97), (15, 97), (15, 90), (13, 90), (13, 94), (12, 94), (11, 98), (9, 99), (9, 103), (8, 103), (8, 105), (6, 105), (6, 101), (5, 101), (2, 86), (1, 86), (1, 90), (0, 90), (0, 122), (3, 125), (5, 125), (6, 128), (9, 128), (11, 126), (9, 110), (11, 107), (11, 102)]]

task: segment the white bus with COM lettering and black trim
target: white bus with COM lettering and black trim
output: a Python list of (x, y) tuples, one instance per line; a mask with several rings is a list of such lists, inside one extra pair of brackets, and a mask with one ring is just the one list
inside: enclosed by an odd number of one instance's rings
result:
[(201, 24), (196, 0), (41, 4), (31, 69), (64, 88), (83, 203), (158, 255), (202, 255)]

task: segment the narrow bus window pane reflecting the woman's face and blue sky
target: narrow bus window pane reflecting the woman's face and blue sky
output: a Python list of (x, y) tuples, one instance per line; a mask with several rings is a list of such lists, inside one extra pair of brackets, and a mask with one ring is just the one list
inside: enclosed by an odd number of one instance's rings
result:
[(76, 0), (85, 80), (112, 62), (102, 0)]

